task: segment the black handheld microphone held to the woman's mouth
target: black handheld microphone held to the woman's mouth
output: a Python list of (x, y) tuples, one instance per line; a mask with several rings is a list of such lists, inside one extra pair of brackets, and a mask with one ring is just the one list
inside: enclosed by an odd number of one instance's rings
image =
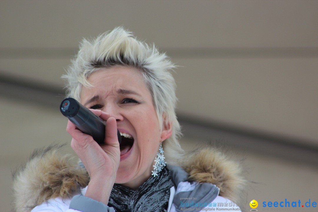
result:
[[(91, 135), (98, 144), (104, 144), (105, 140), (105, 121), (95, 115), (87, 107), (81, 105), (76, 99), (66, 98), (60, 105), (61, 113), (72, 121), (76, 127)], [(117, 130), (119, 144), (121, 143), (121, 135)]]

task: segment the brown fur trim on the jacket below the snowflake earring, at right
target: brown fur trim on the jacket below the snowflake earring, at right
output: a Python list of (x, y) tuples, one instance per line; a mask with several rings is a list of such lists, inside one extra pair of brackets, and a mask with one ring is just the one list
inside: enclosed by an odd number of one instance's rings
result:
[(184, 158), (182, 168), (189, 173), (189, 181), (212, 183), (220, 189), (220, 196), (241, 203), (246, 180), (237, 162), (212, 147), (193, 151)]

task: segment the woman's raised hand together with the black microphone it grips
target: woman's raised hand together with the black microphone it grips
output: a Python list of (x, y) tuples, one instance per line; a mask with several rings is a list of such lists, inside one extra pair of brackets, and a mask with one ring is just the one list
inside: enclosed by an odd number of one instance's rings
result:
[[(99, 114), (95, 115), (73, 98), (64, 99), (60, 111), (73, 123), (68, 123), (66, 127), (66, 131), (73, 137), (71, 147), (90, 176), (85, 196), (107, 204), (120, 163), (120, 147), (114, 132), (116, 120), (102, 111), (94, 111)], [(107, 120), (107, 127), (106, 121), (99, 116)], [(91, 135), (99, 145), (91, 138), (87, 139), (74, 125), (81, 132)], [(120, 144), (121, 135), (118, 129), (117, 137)]]

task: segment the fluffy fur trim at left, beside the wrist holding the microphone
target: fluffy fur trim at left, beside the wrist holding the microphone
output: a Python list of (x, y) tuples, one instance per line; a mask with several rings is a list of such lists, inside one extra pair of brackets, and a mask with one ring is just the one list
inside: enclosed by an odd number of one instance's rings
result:
[(34, 151), (13, 174), (14, 211), (29, 212), (51, 198), (71, 197), (79, 186), (88, 185), (86, 170), (72, 163), (70, 155), (58, 154), (63, 146)]

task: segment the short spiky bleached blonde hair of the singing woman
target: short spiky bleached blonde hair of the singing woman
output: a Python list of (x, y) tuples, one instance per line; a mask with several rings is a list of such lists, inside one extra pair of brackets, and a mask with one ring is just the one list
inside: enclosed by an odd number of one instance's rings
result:
[(171, 74), (175, 65), (155, 45), (138, 41), (122, 27), (105, 32), (93, 40), (83, 39), (77, 56), (62, 78), (67, 79), (67, 97), (80, 100), (81, 87), (92, 86), (87, 78), (101, 68), (126, 66), (137, 68), (152, 95), (161, 128), (172, 124), (172, 135), (162, 142), (166, 161), (177, 164), (183, 154), (178, 142), (181, 127), (176, 118), (176, 83)]

